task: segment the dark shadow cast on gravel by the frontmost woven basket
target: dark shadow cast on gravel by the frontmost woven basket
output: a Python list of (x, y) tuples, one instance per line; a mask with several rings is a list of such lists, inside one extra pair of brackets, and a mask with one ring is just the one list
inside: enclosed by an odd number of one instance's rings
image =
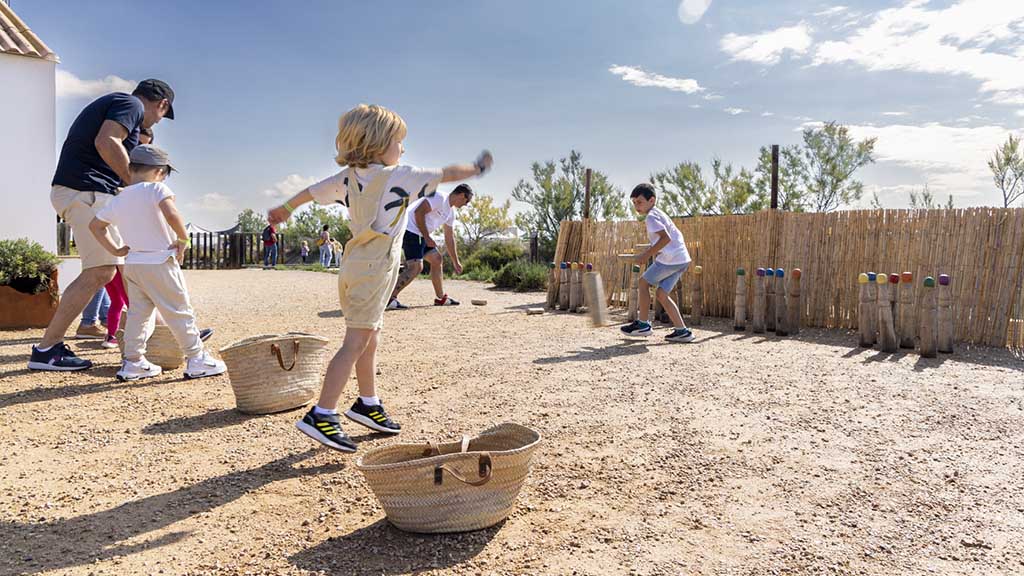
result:
[[(452, 534), (402, 532), (386, 519), (290, 557), (296, 568), (324, 574), (418, 574), (444, 570), (480, 553), (505, 521), (490, 528)], [(353, 565), (358, 559), (358, 565)], [(319, 572), (323, 571), (323, 572)]]

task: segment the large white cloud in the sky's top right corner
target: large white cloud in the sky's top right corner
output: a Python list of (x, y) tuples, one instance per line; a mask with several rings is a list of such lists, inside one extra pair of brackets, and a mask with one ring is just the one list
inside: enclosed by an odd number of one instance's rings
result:
[(913, 0), (882, 10), (845, 40), (821, 43), (816, 66), (967, 76), (999, 104), (1024, 104), (1024, 2), (961, 0), (928, 9)]

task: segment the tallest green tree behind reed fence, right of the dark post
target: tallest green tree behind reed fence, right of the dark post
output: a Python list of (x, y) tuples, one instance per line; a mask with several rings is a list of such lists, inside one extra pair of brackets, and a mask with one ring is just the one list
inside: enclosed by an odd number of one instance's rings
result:
[(808, 207), (831, 212), (860, 200), (864, 184), (852, 176), (861, 166), (874, 162), (877, 139), (855, 141), (849, 129), (836, 122), (804, 129), (800, 178)]

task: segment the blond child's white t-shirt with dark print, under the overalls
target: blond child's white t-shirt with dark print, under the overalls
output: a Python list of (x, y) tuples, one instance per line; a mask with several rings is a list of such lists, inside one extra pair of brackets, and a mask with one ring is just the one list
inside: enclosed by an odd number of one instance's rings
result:
[[(355, 168), (359, 187), (374, 179), (383, 166), (371, 164), (367, 168)], [(348, 206), (348, 178), (346, 170), (329, 176), (309, 187), (309, 193), (317, 204), (341, 204)], [(419, 198), (434, 194), (441, 181), (440, 168), (417, 168), (416, 166), (395, 166), (384, 187), (384, 196), (377, 209), (377, 217), (370, 225), (375, 232), (391, 238), (406, 233), (406, 212), (410, 204)]]

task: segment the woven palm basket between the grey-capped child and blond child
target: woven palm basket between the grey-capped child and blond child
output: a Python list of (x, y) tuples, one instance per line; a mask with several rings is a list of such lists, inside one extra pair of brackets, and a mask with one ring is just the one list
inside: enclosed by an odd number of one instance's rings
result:
[(321, 387), (328, 339), (289, 332), (220, 348), (239, 411), (270, 414), (308, 403)]

